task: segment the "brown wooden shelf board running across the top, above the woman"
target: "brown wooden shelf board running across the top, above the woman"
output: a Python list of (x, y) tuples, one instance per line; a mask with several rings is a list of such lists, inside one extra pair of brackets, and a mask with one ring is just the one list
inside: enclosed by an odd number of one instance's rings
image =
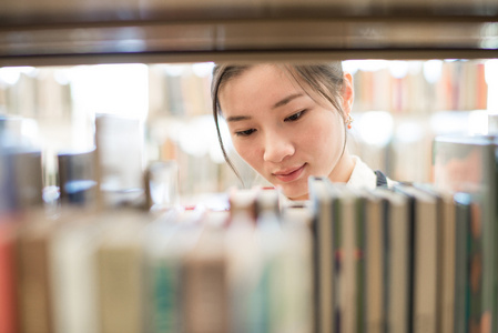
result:
[(223, 10), (216, 1), (202, 7), (186, 1), (171, 10), (146, 2), (121, 11), (75, 1), (64, 8), (54, 2), (59, 7), (52, 3), (51, 11), (11, 3), (0, 14), (0, 65), (498, 58), (495, 2), (423, 1), (404, 8), (358, 6), (363, 2), (332, 8), (316, 0), (301, 10), (292, 1), (246, 1)]

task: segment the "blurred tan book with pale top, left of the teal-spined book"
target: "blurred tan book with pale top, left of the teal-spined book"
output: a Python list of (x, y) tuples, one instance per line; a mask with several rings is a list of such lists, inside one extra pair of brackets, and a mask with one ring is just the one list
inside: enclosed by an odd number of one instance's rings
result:
[(143, 330), (144, 223), (120, 214), (100, 238), (96, 281), (100, 332)]

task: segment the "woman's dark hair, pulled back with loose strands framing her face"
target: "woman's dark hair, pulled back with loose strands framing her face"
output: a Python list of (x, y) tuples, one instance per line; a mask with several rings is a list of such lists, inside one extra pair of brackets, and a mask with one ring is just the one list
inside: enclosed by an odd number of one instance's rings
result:
[[(211, 97), (213, 102), (213, 117), (216, 124), (217, 139), (220, 147), (225, 158), (226, 163), (242, 181), (240, 173), (230, 160), (225, 147), (223, 144), (220, 132), (218, 114), (222, 114), (218, 93), (220, 90), (230, 80), (241, 75), (254, 64), (216, 64), (213, 69), (213, 79), (211, 82)], [(306, 92), (314, 92), (327, 100), (336, 110), (339, 111), (341, 117), (345, 119), (344, 110), (341, 107), (342, 90), (344, 88), (344, 72), (343, 65), (339, 61), (322, 64), (275, 64), (281, 67), (303, 88)], [(309, 93), (308, 93), (309, 94)], [(343, 153), (346, 148), (344, 141)]]

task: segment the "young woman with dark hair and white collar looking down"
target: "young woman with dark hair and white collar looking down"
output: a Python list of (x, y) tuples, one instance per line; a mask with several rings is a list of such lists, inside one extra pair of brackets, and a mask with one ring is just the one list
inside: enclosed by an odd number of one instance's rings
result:
[(373, 189), (392, 185), (346, 148), (353, 121), (353, 78), (327, 64), (218, 64), (213, 71), (213, 115), (228, 125), (243, 160), (291, 200), (308, 199), (311, 175)]

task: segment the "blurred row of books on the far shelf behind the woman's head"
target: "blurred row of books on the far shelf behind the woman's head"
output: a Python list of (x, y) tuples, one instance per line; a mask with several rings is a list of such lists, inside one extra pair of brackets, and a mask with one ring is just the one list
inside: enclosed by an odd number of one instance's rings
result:
[[(347, 63), (347, 62), (346, 62)], [(352, 62), (357, 112), (385, 110), (395, 113), (427, 113), (437, 111), (484, 110), (487, 108), (488, 85), (486, 61), (375, 61)], [(149, 64), (142, 73), (149, 81), (145, 97), (151, 122), (161, 117), (196, 117), (211, 113), (212, 63)], [(350, 67), (350, 64), (348, 64)], [(112, 68), (108, 65), (108, 68)], [(124, 70), (125, 67), (121, 65)], [(348, 70), (348, 67), (345, 67)], [(102, 67), (104, 72), (105, 67)], [(133, 72), (130, 65), (130, 73)], [(37, 68), (11, 70), (6, 78), (17, 80), (0, 84), (0, 111), (39, 119), (68, 120), (74, 112), (85, 110), (83, 100), (74, 95), (89, 87), (84, 77), (71, 78), (71, 68)], [(99, 73), (95, 69), (95, 73)], [(0, 77), (0, 81), (2, 77)], [(6, 79), (7, 80), (7, 79)], [(122, 89), (120, 87), (119, 89)], [(135, 89), (132, 83), (128, 90)], [(109, 91), (113, 97), (118, 92)], [(112, 104), (101, 97), (101, 104)], [(96, 107), (95, 107), (96, 108)]]

